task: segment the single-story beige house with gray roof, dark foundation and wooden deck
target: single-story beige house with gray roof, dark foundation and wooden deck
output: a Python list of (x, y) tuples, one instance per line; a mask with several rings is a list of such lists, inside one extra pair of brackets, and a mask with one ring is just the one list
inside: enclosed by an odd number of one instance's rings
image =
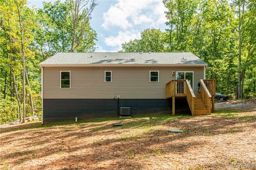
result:
[(211, 113), (214, 81), (205, 83), (207, 64), (190, 52), (57, 53), (40, 66), (43, 123), (117, 116), (121, 109), (174, 115), (178, 105), (193, 115)]

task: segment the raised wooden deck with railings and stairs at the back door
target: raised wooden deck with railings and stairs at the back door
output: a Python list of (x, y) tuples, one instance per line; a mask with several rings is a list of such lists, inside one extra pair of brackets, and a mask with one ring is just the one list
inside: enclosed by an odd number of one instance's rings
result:
[(172, 115), (175, 115), (175, 98), (187, 99), (192, 115), (207, 115), (214, 111), (215, 80), (201, 79), (199, 94), (194, 94), (188, 80), (171, 80), (166, 84), (166, 98), (172, 98)]

